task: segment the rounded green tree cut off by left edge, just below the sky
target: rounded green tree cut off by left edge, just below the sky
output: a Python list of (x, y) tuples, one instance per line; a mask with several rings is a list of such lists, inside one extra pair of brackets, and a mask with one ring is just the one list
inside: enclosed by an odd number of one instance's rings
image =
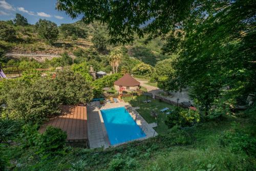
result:
[(16, 31), (12, 26), (5, 22), (0, 22), (0, 39), (5, 41), (13, 41), (16, 38)]

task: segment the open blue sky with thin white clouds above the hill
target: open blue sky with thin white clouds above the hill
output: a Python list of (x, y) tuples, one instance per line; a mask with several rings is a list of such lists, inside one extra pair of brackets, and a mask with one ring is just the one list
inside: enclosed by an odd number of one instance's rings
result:
[(57, 0), (0, 0), (0, 20), (14, 19), (16, 13), (26, 17), (29, 24), (35, 24), (41, 18), (51, 20), (59, 26), (80, 19), (72, 19), (65, 12), (56, 10), (56, 3)]

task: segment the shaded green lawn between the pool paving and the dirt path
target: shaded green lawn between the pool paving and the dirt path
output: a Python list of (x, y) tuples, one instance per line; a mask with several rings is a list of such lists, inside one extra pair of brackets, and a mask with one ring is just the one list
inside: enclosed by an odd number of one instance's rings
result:
[(140, 109), (137, 111), (147, 121), (147, 123), (156, 122), (156, 119), (151, 116), (151, 112), (155, 110), (155, 112), (158, 114), (159, 121), (159, 125), (156, 128), (156, 131), (159, 134), (166, 133), (166, 131), (168, 130), (167, 125), (164, 123), (166, 119), (166, 114), (160, 112), (160, 110), (166, 107), (170, 110), (174, 110), (175, 106), (172, 106), (165, 102), (159, 102), (159, 100), (152, 99), (151, 97), (148, 97), (148, 100), (151, 100), (150, 103), (143, 103), (143, 101), (146, 100), (146, 96), (143, 95), (134, 96), (134, 99), (132, 97), (123, 97), (123, 100), (125, 102), (129, 102), (133, 107), (139, 106)]

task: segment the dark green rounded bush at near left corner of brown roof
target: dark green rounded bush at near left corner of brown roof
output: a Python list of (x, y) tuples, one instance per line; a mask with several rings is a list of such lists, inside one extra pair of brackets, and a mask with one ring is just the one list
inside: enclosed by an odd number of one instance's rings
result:
[(41, 134), (39, 140), (40, 152), (55, 153), (61, 151), (66, 144), (67, 133), (61, 129), (48, 126), (46, 131)]

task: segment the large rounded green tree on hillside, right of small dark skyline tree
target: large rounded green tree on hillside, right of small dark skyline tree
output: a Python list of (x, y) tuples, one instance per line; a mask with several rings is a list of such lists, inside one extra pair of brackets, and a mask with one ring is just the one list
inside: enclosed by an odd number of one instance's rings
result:
[(50, 20), (39, 19), (36, 22), (35, 27), (37, 29), (38, 35), (44, 38), (49, 44), (52, 44), (58, 38), (58, 28), (57, 25)]

